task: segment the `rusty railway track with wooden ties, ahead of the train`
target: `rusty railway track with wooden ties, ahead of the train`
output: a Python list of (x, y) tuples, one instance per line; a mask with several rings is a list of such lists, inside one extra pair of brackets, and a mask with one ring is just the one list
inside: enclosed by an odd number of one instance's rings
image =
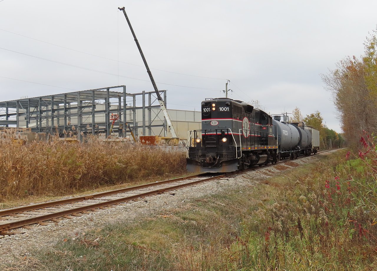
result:
[[(317, 152), (317, 154), (331, 150), (320, 151)], [(281, 160), (279, 163), (285, 161), (291, 160)], [(258, 167), (253, 167), (251, 169), (241, 171), (241, 173), (253, 171), (257, 168)], [(0, 234), (16, 234), (18, 232), (12, 233), (10, 230), (32, 224), (43, 224), (43, 222), (46, 221), (58, 222), (59, 220), (56, 219), (69, 218), (69, 216), (81, 216), (86, 212), (101, 209), (103, 207), (121, 204), (127, 201), (135, 201), (146, 196), (162, 194), (182, 187), (193, 186), (205, 181), (237, 175), (239, 173), (240, 172), (233, 172), (229, 174), (191, 175), (93, 195), (79, 196), (75, 198), (61, 199), (57, 201), (2, 210), (0, 211)]]

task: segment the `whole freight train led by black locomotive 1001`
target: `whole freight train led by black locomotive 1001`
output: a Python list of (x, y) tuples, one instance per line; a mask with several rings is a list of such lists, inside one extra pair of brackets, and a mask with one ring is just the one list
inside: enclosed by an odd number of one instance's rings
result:
[(232, 172), (317, 150), (303, 123), (280, 122), (246, 102), (209, 99), (201, 109), (202, 129), (189, 131), (187, 171)]

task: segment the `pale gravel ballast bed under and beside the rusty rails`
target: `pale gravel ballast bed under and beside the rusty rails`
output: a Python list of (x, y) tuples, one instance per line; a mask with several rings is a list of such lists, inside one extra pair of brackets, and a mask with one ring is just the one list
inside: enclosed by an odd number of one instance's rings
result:
[[(333, 151), (329, 151), (331, 153)], [(20, 220), (38, 217), (42, 215), (51, 215), (56, 212), (65, 212), (64, 209), (76, 209), (70, 213), (59, 218), (52, 218), (49, 220), (37, 218), (38, 224), (28, 223), (28, 226), (19, 226), (22, 228), (6, 228), (9, 220), (0, 220), (0, 227), (3, 227), (3, 233), (8, 233), (0, 236), (0, 254), (3, 256), (4, 262), (11, 261), (14, 257), (27, 255), (31, 251), (38, 250), (38, 248), (46, 245), (53, 245), (65, 238), (75, 238), (80, 234), (85, 234), (87, 230), (92, 228), (102, 227), (113, 222), (124, 221), (125, 227), (127, 221), (141, 219), (145, 216), (155, 215), (161, 213), (163, 210), (174, 209), (182, 204), (186, 204), (189, 200), (210, 195), (213, 193), (221, 193), (224, 190), (231, 189), (238, 186), (255, 186), (258, 180), (272, 177), (276, 174), (282, 174), (284, 170), (297, 167), (300, 164), (315, 163), (317, 157), (325, 154), (311, 155), (302, 157), (297, 160), (283, 160), (281, 163), (265, 166), (254, 167), (244, 172), (230, 175), (195, 175), (193, 177), (184, 177), (176, 180), (167, 180), (164, 182), (155, 183), (154, 186), (149, 184), (148, 187), (133, 187), (127, 188), (129, 191), (120, 193), (112, 193), (105, 196), (89, 195), (88, 199), (84, 201), (77, 201), (77, 199), (70, 199), (72, 202), (67, 203), (66, 207), (59, 207), (55, 203), (45, 203), (52, 206), (44, 209), (28, 210), (21, 212), (8, 212), (6, 216), (1, 218), (11, 217), (11, 221), (17, 222)], [(146, 185), (143, 185), (146, 186)], [(110, 193), (110, 192), (107, 192)], [(144, 194), (144, 195), (143, 195)], [(128, 199), (126, 199), (129, 197)], [(113, 201), (114, 204), (106, 204), (106, 201)], [(116, 203), (116, 201), (119, 201)], [(102, 207), (89, 207), (91, 204), (104, 204)], [(112, 206), (109, 206), (112, 205)], [(29, 207), (30, 208), (30, 207)], [(84, 208), (84, 209), (80, 209)], [(29, 215), (22, 215), (23, 213), (31, 212), (34, 215), (27, 218)], [(59, 215), (61, 215), (60, 213)], [(0, 213), (1, 215), (1, 213)], [(56, 215), (54, 215), (56, 216)], [(46, 218), (46, 217), (45, 217)], [(40, 220), (40, 221), (38, 221)], [(44, 221), (44, 222), (42, 222)], [(33, 223), (36, 223), (33, 221)], [(31, 225), (32, 224), (32, 225)], [(12, 235), (10, 235), (12, 234)]]

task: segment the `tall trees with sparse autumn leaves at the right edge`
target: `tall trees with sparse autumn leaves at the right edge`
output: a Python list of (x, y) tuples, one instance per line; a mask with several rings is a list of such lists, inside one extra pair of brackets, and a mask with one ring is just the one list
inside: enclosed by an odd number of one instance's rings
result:
[(336, 69), (322, 75), (325, 89), (331, 91), (348, 145), (359, 148), (360, 136), (376, 132), (377, 116), (377, 38), (376, 30), (364, 42), (364, 53), (342, 59)]

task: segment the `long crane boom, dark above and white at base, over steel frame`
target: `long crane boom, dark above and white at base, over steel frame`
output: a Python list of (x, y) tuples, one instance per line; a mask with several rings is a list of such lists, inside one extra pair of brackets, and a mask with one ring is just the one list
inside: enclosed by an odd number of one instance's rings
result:
[(119, 10), (123, 11), (123, 14), (124, 14), (124, 17), (126, 17), (126, 20), (127, 20), (127, 23), (128, 23), (128, 26), (130, 27), (130, 30), (131, 30), (131, 33), (133, 35), (133, 39), (135, 40), (135, 43), (136, 43), (136, 46), (138, 47), (139, 49), (139, 53), (141, 55), (141, 58), (143, 59), (144, 61), (144, 65), (147, 69), (147, 73), (149, 75), (149, 78), (150, 78), (150, 81), (152, 82), (152, 85), (153, 85), (153, 88), (156, 92), (156, 95), (157, 95), (157, 100), (160, 104), (160, 107), (161, 107), (161, 110), (162, 112), (164, 113), (164, 116), (165, 116), (165, 119), (166, 119), (166, 122), (167, 122), (167, 125), (169, 126), (169, 129), (170, 129), (170, 132), (172, 134), (172, 138), (177, 138), (177, 134), (175, 132), (175, 129), (172, 125), (172, 121), (170, 120), (170, 117), (169, 117), (169, 113), (167, 112), (167, 109), (166, 109), (166, 106), (164, 104), (164, 100), (162, 100), (162, 97), (158, 91), (158, 88), (157, 88), (157, 85), (156, 85), (156, 82), (155, 82), (155, 79), (153, 79), (153, 76), (152, 76), (152, 73), (150, 72), (150, 69), (149, 69), (149, 66), (147, 64), (147, 61), (144, 57), (144, 54), (143, 54), (143, 51), (141, 50), (141, 47), (140, 47), (140, 44), (139, 44), (139, 41), (138, 39), (136, 38), (136, 35), (135, 35), (135, 32), (133, 32), (133, 29), (132, 29), (132, 26), (131, 26), (131, 23), (130, 23), (130, 20), (129, 18), (127, 17), (127, 14), (126, 14), (126, 10), (123, 8), (118, 8)]

